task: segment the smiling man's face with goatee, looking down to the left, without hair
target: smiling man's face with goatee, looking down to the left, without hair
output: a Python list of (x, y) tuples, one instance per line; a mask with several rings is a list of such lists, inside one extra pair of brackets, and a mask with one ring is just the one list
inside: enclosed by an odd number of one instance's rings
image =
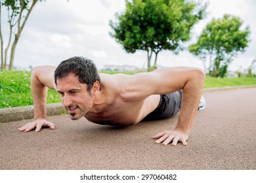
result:
[(93, 107), (92, 92), (87, 91), (87, 84), (79, 82), (78, 76), (70, 73), (64, 78), (58, 78), (56, 83), (62, 105), (66, 107), (72, 120), (78, 120), (91, 110)]

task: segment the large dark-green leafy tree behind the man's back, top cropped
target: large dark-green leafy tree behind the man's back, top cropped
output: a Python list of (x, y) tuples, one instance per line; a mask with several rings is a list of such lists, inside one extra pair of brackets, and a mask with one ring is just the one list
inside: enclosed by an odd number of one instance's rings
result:
[(110, 35), (128, 53), (146, 51), (149, 70), (153, 52), (156, 67), (161, 50), (182, 50), (181, 43), (190, 40), (190, 29), (205, 16), (206, 6), (186, 0), (126, 1), (125, 12), (116, 14), (117, 22), (110, 20)]

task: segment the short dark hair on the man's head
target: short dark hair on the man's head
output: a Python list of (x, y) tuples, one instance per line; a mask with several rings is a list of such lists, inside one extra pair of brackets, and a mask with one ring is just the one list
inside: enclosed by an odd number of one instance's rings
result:
[(79, 82), (87, 84), (88, 91), (93, 88), (93, 83), (96, 81), (100, 82), (100, 76), (98, 75), (96, 65), (91, 59), (74, 57), (62, 61), (54, 71), (55, 84), (57, 85), (56, 80), (58, 78), (64, 78), (70, 73), (74, 73), (75, 76), (78, 76)]

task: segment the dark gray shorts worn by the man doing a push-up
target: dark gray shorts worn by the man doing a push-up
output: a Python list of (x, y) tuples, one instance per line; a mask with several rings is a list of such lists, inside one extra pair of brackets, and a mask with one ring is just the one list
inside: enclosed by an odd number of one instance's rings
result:
[(175, 116), (181, 110), (182, 90), (177, 92), (160, 95), (158, 107), (148, 114), (143, 120), (163, 120)]

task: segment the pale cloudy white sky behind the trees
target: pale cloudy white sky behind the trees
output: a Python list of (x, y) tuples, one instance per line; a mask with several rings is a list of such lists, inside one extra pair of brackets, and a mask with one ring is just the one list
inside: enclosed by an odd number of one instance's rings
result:
[[(213, 18), (224, 14), (239, 16), (251, 35), (248, 48), (232, 61), (230, 71), (244, 70), (256, 58), (256, 1), (255, 0), (202, 0), (208, 2), (207, 17), (194, 25), (192, 40), (196, 42), (203, 27)], [(133, 65), (146, 67), (146, 52), (127, 54), (121, 44), (110, 37), (110, 20), (115, 14), (125, 11), (125, 0), (47, 0), (38, 2), (30, 14), (18, 41), (14, 66), (57, 66), (61, 61), (74, 56), (93, 59), (98, 69), (104, 65)], [(2, 12), (4, 44), (7, 42), (7, 13)], [(158, 65), (162, 67), (191, 66), (203, 69), (202, 61), (188, 51), (179, 55), (171, 51), (160, 52)]]

